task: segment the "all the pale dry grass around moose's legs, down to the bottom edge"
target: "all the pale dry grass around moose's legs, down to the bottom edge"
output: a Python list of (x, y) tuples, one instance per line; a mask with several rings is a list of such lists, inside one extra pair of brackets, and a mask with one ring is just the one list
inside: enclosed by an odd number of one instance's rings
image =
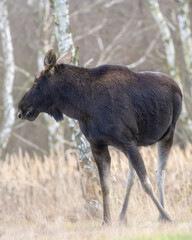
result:
[[(128, 164), (123, 154), (110, 152), (113, 224), (105, 228), (101, 228), (97, 172), (81, 168), (74, 151), (66, 153), (67, 162), (55, 156), (42, 162), (36, 155), (31, 158), (21, 151), (0, 161), (0, 239), (131, 239), (159, 232), (192, 232), (191, 145), (185, 151), (175, 146), (167, 166), (165, 202), (173, 224), (157, 223), (157, 210), (136, 179), (127, 226), (118, 226)], [(143, 148), (141, 153), (157, 194), (156, 149)]]

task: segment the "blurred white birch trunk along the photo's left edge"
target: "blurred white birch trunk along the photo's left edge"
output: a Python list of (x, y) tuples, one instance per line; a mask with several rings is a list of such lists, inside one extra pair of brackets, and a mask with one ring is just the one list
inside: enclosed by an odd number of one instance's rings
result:
[(15, 109), (13, 106), (12, 88), (14, 82), (14, 56), (11, 33), (8, 21), (6, 0), (0, 1), (0, 34), (2, 51), (4, 55), (4, 77), (3, 77), (3, 122), (0, 128), (0, 156), (6, 148), (15, 122)]

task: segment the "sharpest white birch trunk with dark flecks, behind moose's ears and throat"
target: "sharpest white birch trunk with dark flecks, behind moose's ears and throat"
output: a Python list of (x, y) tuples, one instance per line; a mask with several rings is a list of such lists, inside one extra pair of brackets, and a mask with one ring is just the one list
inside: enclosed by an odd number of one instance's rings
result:
[[(58, 48), (60, 54), (71, 49), (73, 64), (77, 65), (78, 59), (76, 56), (76, 49), (74, 47), (72, 33), (69, 23), (69, 1), (68, 0), (54, 0), (54, 17), (55, 17), (55, 32), (56, 39), (58, 41)], [(83, 161), (85, 165), (89, 165), (91, 160), (89, 144), (85, 137), (82, 135), (78, 123), (74, 119), (68, 118), (69, 126), (72, 132), (72, 140), (78, 150), (79, 159)]]

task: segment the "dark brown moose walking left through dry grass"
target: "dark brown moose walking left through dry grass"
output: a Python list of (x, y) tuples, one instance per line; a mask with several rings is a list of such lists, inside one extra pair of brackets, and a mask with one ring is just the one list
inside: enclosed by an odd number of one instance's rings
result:
[[(176, 122), (182, 108), (182, 93), (177, 83), (160, 72), (134, 72), (125, 66), (101, 65), (84, 68), (70, 65), (71, 52), (58, 60), (54, 49), (44, 58), (32, 88), (18, 106), (18, 117), (34, 121), (39, 113), (56, 121), (63, 114), (79, 122), (90, 143), (99, 171), (103, 196), (103, 223), (110, 223), (109, 187), (111, 158), (108, 146), (128, 158), (128, 183), (119, 216), (125, 222), (134, 174), (159, 211), (160, 221), (171, 221), (164, 209), (164, 173), (172, 147)], [(159, 201), (138, 147), (158, 145), (156, 181)]]

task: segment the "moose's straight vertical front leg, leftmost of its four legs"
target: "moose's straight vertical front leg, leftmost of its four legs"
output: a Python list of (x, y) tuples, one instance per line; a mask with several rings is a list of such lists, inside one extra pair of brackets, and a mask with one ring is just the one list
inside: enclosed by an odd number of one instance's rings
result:
[(91, 144), (93, 157), (98, 167), (101, 189), (103, 194), (103, 223), (111, 221), (109, 209), (109, 185), (111, 158), (107, 146), (96, 146)]

